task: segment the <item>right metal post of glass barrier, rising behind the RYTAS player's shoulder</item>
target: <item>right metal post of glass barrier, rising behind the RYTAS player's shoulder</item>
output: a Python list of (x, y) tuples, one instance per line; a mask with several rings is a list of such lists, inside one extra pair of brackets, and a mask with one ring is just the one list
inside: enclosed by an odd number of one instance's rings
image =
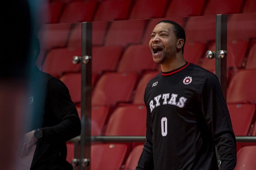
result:
[(216, 15), (216, 76), (219, 79), (223, 96), (227, 96), (227, 57), (220, 55), (220, 51), (227, 51), (227, 15)]

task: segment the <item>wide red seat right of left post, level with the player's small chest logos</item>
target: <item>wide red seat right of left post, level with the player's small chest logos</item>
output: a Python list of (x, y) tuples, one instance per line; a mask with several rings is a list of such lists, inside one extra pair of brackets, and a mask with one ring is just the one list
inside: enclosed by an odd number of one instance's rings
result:
[(92, 105), (114, 106), (118, 102), (129, 102), (137, 77), (134, 73), (104, 73), (93, 90)]

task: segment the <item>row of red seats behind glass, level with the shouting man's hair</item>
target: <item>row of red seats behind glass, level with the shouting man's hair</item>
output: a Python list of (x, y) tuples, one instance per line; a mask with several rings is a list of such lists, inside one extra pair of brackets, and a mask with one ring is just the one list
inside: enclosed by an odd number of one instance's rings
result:
[[(255, 13), (228, 16), (227, 38), (250, 40), (256, 38)], [(92, 22), (92, 45), (126, 47), (130, 44), (148, 44), (157, 22), (171, 19), (184, 27), (187, 42), (207, 44), (215, 41), (215, 16), (206, 15), (186, 18), (160, 18), (152, 20), (123, 20), (113, 22)], [(81, 47), (81, 23), (44, 24), (39, 31), (42, 49), (49, 51), (56, 47)]]

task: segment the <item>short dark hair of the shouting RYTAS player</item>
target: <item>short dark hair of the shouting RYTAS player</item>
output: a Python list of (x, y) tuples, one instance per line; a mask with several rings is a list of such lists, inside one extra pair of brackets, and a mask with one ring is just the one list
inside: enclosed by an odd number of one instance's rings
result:
[(177, 22), (174, 22), (174, 21), (171, 21), (171, 20), (161, 20), (157, 24), (159, 24), (161, 22), (172, 24), (173, 25), (173, 32), (174, 32), (176, 38), (177, 39), (184, 39), (184, 43), (183, 43), (183, 46), (181, 48), (182, 54), (183, 54), (184, 46), (185, 46), (185, 42), (186, 42), (186, 34), (185, 34), (185, 31), (182, 28), (182, 26), (180, 26)]

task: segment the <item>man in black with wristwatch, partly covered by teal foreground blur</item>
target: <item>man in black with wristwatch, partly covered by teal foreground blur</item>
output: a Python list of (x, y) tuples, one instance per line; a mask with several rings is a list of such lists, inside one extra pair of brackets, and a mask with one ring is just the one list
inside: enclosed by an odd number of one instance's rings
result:
[[(39, 40), (33, 39), (34, 56), (39, 54)], [(35, 63), (35, 61), (33, 61)], [(66, 141), (80, 135), (81, 122), (67, 87), (36, 66), (31, 70), (30, 132), (24, 136), (22, 156), (36, 144), (31, 170), (72, 170), (66, 161)], [(32, 130), (32, 131), (31, 131)]]

